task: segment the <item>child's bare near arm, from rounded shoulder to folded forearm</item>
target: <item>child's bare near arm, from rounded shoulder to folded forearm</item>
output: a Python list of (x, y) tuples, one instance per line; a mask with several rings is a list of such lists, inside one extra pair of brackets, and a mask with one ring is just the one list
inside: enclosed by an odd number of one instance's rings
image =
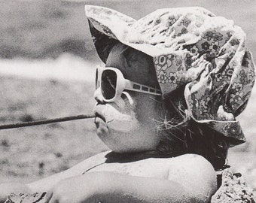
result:
[(170, 170), (175, 174), (169, 174), (166, 179), (113, 172), (72, 177), (56, 185), (50, 203), (208, 202), (217, 187), (215, 171), (205, 159), (189, 158), (194, 162), (183, 166), (181, 163), (178, 170)]

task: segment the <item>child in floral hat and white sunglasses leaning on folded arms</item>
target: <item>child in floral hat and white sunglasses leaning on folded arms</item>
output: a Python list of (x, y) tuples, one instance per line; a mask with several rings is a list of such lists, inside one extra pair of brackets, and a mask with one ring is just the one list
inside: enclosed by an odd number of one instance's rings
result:
[(2, 199), (47, 192), (49, 202), (209, 202), (228, 147), (245, 141), (235, 120), (254, 84), (244, 33), (203, 8), (138, 21), (108, 8), (86, 12), (105, 62), (96, 71), (96, 132), (111, 151), (2, 185)]

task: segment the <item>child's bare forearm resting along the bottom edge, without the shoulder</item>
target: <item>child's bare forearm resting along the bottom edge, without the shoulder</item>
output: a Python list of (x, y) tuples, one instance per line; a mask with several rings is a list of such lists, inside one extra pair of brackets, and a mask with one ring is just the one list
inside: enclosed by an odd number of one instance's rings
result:
[(56, 202), (190, 202), (190, 197), (170, 180), (92, 172), (61, 181), (50, 199)]

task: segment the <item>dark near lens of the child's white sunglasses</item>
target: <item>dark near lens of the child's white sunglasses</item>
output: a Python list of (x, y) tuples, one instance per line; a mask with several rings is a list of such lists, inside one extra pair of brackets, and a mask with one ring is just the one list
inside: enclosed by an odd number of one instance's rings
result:
[(105, 99), (114, 98), (117, 87), (117, 74), (115, 71), (102, 72), (102, 95)]

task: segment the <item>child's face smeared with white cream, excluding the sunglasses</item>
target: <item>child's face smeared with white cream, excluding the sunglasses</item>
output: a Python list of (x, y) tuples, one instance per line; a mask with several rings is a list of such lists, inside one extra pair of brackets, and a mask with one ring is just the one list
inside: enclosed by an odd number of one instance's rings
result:
[[(136, 83), (158, 87), (152, 59), (139, 51), (117, 44), (108, 56), (106, 67), (118, 68), (123, 77)], [(159, 88), (159, 87), (158, 87)], [(102, 102), (95, 92), (97, 135), (115, 152), (154, 150), (160, 141), (157, 126), (165, 109), (160, 96), (124, 90), (116, 102)], [(132, 98), (130, 102), (128, 97)]]

